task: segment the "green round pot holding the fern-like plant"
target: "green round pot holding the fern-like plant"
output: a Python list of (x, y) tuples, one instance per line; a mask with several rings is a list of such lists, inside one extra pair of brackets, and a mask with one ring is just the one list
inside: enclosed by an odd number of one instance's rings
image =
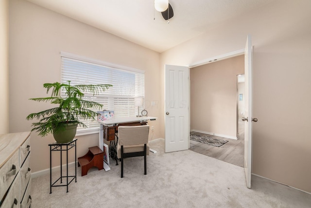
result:
[(61, 124), (53, 128), (53, 136), (57, 143), (68, 143), (73, 140), (77, 132), (77, 123)]

